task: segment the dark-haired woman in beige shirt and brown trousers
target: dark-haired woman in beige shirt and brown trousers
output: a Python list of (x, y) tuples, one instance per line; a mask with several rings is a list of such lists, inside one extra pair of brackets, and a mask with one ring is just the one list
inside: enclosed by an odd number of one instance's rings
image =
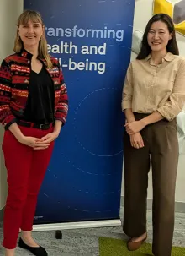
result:
[(128, 249), (147, 238), (148, 172), (153, 179), (153, 253), (171, 256), (178, 163), (176, 117), (185, 103), (185, 59), (172, 19), (156, 14), (146, 25), (138, 57), (124, 82), (124, 232)]

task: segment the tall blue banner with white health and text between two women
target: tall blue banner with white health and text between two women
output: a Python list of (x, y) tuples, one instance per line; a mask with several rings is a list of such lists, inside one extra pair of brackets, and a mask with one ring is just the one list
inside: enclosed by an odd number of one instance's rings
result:
[(24, 0), (45, 22), (64, 73), (69, 115), (40, 190), (34, 223), (119, 219), (134, 0)]

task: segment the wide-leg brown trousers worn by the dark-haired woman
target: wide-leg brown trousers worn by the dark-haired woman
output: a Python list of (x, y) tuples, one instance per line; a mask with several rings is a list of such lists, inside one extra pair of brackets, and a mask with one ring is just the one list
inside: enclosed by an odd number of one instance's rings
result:
[[(145, 117), (135, 113), (135, 120)], [(139, 237), (146, 232), (148, 172), (153, 181), (153, 246), (155, 256), (171, 256), (174, 231), (175, 187), (178, 163), (176, 119), (165, 119), (141, 132), (145, 147), (139, 150), (124, 134), (124, 233)]]

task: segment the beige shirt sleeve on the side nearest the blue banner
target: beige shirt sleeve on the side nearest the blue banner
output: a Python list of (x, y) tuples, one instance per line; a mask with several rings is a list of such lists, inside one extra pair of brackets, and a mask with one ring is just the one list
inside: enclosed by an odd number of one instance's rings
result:
[(122, 112), (124, 112), (126, 108), (132, 108), (132, 95), (133, 95), (133, 70), (132, 70), (132, 63), (130, 63), (129, 68), (127, 69), (125, 80), (124, 80), (124, 88), (123, 88), (122, 102), (121, 102)]

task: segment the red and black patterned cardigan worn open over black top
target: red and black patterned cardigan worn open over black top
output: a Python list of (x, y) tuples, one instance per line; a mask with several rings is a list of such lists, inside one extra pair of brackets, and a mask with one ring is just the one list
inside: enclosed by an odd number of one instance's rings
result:
[[(5, 129), (17, 118), (21, 119), (29, 95), (29, 77), (32, 54), (23, 50), (6, 57), (0, 68), (0, 123)], [(55, 88), (55, 117), (63, 124), (66, 123), (68, 112), (68, 98), (63, 74), (56, 58), (50, 57), (52, 68), (47, 67), (44, 59), (40, 61), (45, 65), (53, 80)], [(16, 118), (17, 117), (17, 118)]]

